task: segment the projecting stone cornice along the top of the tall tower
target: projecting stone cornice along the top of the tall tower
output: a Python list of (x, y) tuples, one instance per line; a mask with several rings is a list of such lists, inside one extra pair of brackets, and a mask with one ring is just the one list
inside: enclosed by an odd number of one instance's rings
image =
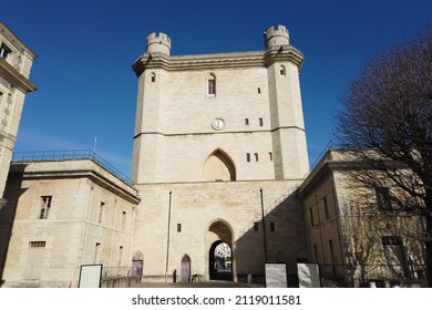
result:
[(291, 45), (268, 49), (267, 51), (217, 53), (169, 56), (163, 53), (144, 53), (132, 65), (140, 76), (148, 69), (166, 71), (217, 70), (229, 68), (267, 68), (275, 62), (292, 62), (301, 66), (304, 55)]

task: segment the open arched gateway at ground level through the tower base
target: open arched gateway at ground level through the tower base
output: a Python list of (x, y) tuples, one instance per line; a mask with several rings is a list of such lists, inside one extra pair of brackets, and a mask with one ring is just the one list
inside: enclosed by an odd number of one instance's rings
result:
[(225, 221), (214, 221), (207, 231), (208, 278), (210, 280), (234, 280), (233, 234)]

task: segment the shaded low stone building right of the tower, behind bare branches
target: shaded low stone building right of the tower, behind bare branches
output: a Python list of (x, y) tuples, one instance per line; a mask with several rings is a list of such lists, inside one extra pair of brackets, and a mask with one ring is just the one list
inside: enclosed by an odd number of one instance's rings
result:
[(358, 164), (349, 152), (330, 149), (300, 187), (310, 260), (344, 287), (421, 283), (421, 220), (380, 209), (377, 193), (350, 177)]

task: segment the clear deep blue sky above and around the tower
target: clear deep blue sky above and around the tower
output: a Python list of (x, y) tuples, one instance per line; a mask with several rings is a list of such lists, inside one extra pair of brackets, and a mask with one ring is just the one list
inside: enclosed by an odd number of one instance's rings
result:
[[(23, 4), (24, 3), (24, 4)], [(264, 50), (285, 24), (306, 56), (300, 74), (309, 161), (332, 138), (347, 83), (379, 51), (432, 22), (430, 0), (3, 1), (0, 19), (33, 51), (17, 152), (93, 149), (130, 175), (136, 76), (145, 38), (162, 31), (172, 54)]]

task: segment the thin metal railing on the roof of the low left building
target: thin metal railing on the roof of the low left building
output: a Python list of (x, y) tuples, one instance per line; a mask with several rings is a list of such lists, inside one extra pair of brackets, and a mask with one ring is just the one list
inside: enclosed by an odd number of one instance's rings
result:
[(16, 152), (12, 162), (43, 162), (43, 161), (71, 161), (90, 159), (101, 167), (112, 173), (124, 183), (132, 185), (132, 180), (113, 165), (90, 149), (68, 149), (68, 151), (37, 151), (37, 152)]

